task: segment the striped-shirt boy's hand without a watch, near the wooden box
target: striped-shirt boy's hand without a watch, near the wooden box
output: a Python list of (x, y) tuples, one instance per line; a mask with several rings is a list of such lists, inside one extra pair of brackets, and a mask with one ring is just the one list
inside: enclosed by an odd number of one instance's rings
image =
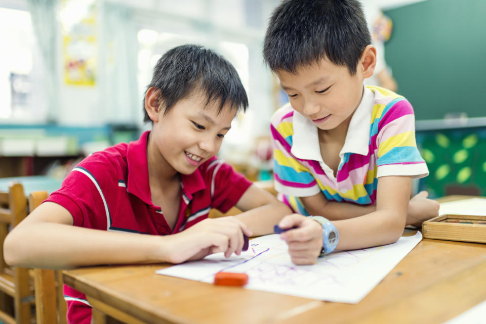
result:
[(421, 191), (409, 202), (407, 211), (407, 225), (422, 226), (422, 222), (436, 217), (439, 214), (439, 203), (435, 200), (428, 199), (429, 194)]

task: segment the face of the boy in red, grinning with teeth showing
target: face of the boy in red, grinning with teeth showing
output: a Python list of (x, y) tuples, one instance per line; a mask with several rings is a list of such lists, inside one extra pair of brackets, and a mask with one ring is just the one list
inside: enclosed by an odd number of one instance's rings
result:
[[(219, 101), (206, 105), (206, 97), (193, 91), (164, 115), (164, 110), (156, 107), (156, 100), (150, 102), (152, 95), (156, 98), (152, 92), (147, 91), (146, 100), (147, 113), (153, 121), (147, 148), (149, 168), (152, 164), (167, 168), (167, 172), (172, 169), (190, 174), (218, 153), (236, 110), (227, 103), (218, 113)], [(150, 109), (152, 106), (154, 109)]]

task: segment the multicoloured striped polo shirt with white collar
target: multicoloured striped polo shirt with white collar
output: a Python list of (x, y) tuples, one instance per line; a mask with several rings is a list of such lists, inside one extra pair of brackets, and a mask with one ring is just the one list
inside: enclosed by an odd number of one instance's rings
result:
[(336, 174), (320, 155), (317, 126), (290, 104), (271, 120), (275, 189), (295, 212), (308, 215), (299, 197), (375, 204), (377, 178), (427, 176), (415, 141), (410, 103), (394, 92), (366, 86), (351, 117)]

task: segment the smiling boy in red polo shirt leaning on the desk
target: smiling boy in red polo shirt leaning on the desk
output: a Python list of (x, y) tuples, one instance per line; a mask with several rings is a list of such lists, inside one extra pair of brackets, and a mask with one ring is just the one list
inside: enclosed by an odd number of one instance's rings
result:
[[(215, 157), (236, 112), (247, 106), (235, 69), (221, 56), (197, 45), (170, 50), (145, 95), (152, 130), (80, 162), (8, 236), (6, 261), (69, 268), (239, 255), (244, 235), (272, 233), (290, 213)], [(208, 218), (211, 208), (233, 206), (244, 212)], [(86, 296), (67, 286), (64, 295), (68, 322), (90, 323)]]

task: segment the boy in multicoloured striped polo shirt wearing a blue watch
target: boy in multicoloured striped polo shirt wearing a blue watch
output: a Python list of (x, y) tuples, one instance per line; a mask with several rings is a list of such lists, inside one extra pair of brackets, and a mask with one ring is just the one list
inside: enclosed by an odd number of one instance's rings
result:
[(273, 115), (271, 132), (275, 189), (298, 213), (279, 222), (291, 228), (281, 237), (294, 263), (393, 243), (405, 224), (437, 215), (426, 192), (409, 203), (412, 179), (428, 174), (412, 106), (363, 85), (376, 49), (359, 2), (283, 1), (263, 53), (290, 101)]

